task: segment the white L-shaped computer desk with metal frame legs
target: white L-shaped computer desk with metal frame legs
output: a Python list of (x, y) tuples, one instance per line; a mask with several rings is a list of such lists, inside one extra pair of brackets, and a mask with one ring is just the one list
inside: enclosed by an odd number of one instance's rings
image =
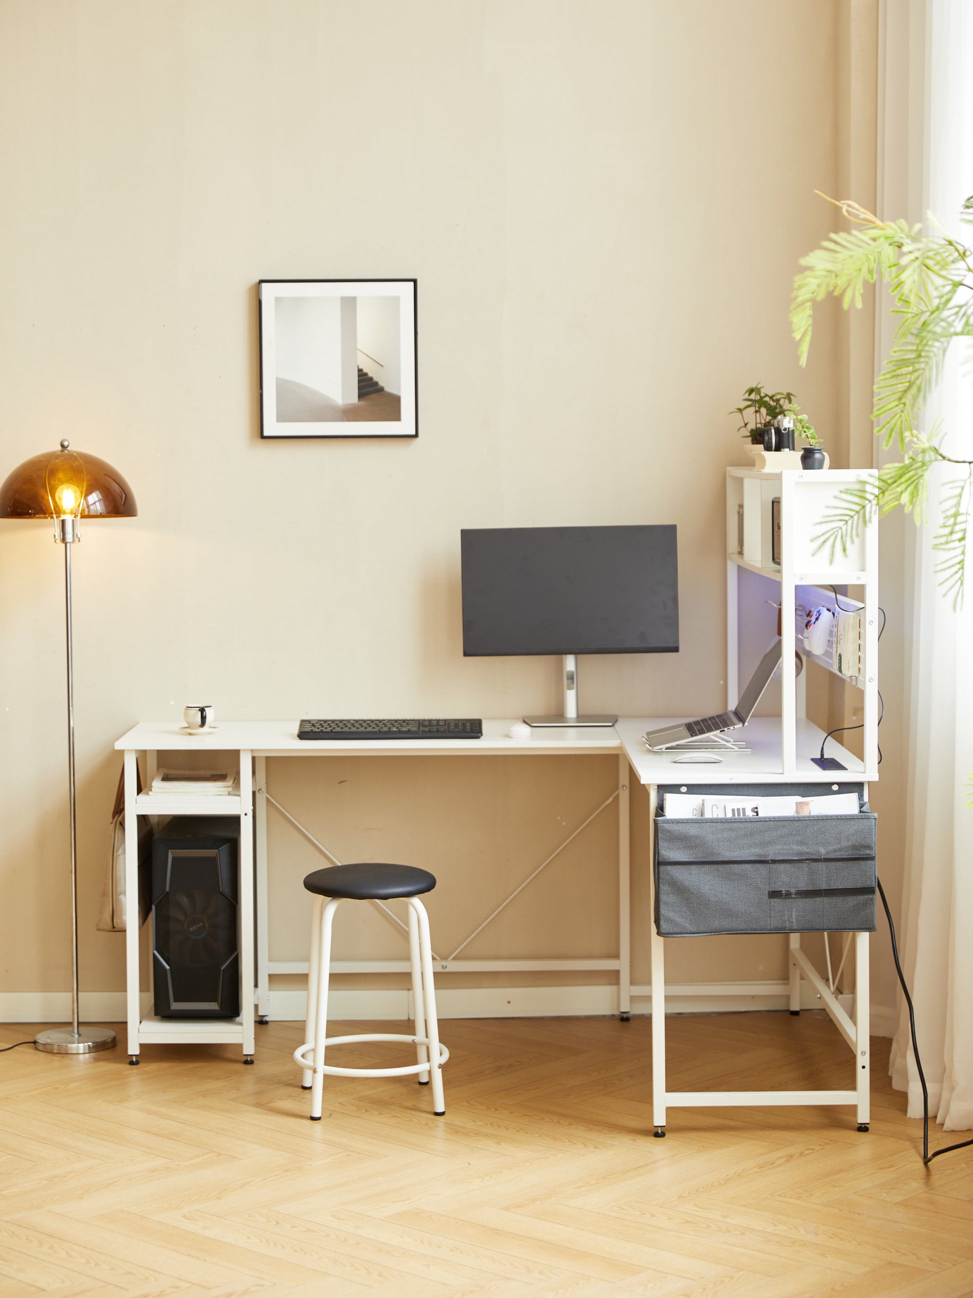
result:
[[(629, 888), (629, 784), (647, 787), (655, 801), (659, 785), (721, 784), (721, 783), (784, 783), (802, 781), (830, 785), (834, 775), (820, 771), (811, 758), (817, 755), (824, 733), (806, 719), (798, 719), (797, 772), (784, 775), (781, 770), (780, 719), (755, 718), (734, 737), (743, 739), (750, 752), (728, 753), (719, 765), (676, 763), (672, 754), (653, 753), (645, 742), (646, 729), (664, 726), (671, 718), (625, 718), (614, 727), (586, 729), (536, 729), (527, 740), (510, 739), (510, 720), (484, 722), (479, 740), (366, 740), (366, 741), (304, 741), (297, 739), (297, 723), (288, 722), (221, 722), (210, 735), (191, 736), (176, 722), (143, 722), (123, 735), (115, 749), (125, 753), (125, 807), (126, 807), (126, 970), (128, 1010), (128, 1054), (138, 1062), (139, 1051), (148, 1044), (236, 1042), (245, 1059), (254, 1053), (256, 1015), (269, 1012), (270, 977), (274, 974), (306, 972), (306, 963), (274, 962), (269, 954), (267, 888), (267, 801), (274, 802), (267, 789), (267, 758), (294, 757), (577, 757), (615, 754), (618, 757), (618, 788), (586, 820), (575, 827), (557, 851), (544, 862), (544, 868), (563, 846), (576, 837), (590, 820), (611, 802), (618, 801), (619, 815), (619, 950), (599, 958), (585, 959), (502, 959), (440, 961), (437, 972), (514, 972), (607, 970), (618, 972), (619, 1014), (628, 1019), (631, 1012), (631, 888)], [(240, 762), (239, 796), (178, 796), (152, 792), (138, 793), (136, 762), (145, 754), (147, 788), (154, 774), (157, 754), (166, 753), (235, 753)], [(868, 781), (876, 772), (847, 750), (830, 741), (829, 752), (847, 767), (845, 780)], [(278, 803), (279, 806), (279, 803)], [(282, 809), (283, 811), (283, 809)], [(283, 811), (288, 815), (287, 811)], [(240, 975), (244, 994), (241, 1014), (234, 1020), (178, 1020), (143, 1016), (140, 989), (140, 933), (138, 883), (138, 816), (169, 815), (232, 815), (240, 816)], [(293, 819), (293, 818), (291, 818)], [(297, 824), (297, 822), (294, 822)], [(307, 831), (297, 824), (305, 835)], [(307, 835), (310, 837), (310, 835)], [(320, 846), (320, 845), (319, 845)], [(647, 862), (651, 879), (651, 862)], [(540, 872), (535, 871), (535, 874)], [(531, 876), (533, 877), (533, 876)], [(448, 885), (448, 880), (444, 880)], [(520, 885), (523, 887), (523, 884)], [(519, 889), (518, 889), (519, 890)], [(256, 896), (254, 896), (256, 892)], [(511, 894), (511, 897), (515, 894)], [(509, 898), (510, 900), (510, 898)], [(496, 911), (494, 911), (496, 914)], [(254, 951), (256, 919), (256, 951)], [(664, 988), (664, 942), (650, 923), (653, 988)], [(847, 1090), (807, 1092), (667, 1092), (666, 1090), (666, 1029), (664, 1014), (653, 1016), (653, 1072), (654, 1123), (656, 1129), (666, 1125), (667, 1105), (747, 1105), (747, 1103), (832, 1103), (855, 1105), (860, 1124), (868, 1123), (868, 933), (856, 935), (856, 1014), (852, 1023), (838, 1003), (806, 954), (800, 950), (799, 935), (790, 937), (790, 1005), (799, 1007), (802, 975), (811, 981), (821, 997), (838, 1029), (856, 1055), (856, 1085)], [(405, 972), (409, 962), (402, 961), (346, 961), (333, 966), (335, 972)], [(253, 993), (248, 989), (252, 988)], [(860, 1044), (860, 1045), (859, 1045)], [(864, 1115), (864, 1116), (863, 1116)]]

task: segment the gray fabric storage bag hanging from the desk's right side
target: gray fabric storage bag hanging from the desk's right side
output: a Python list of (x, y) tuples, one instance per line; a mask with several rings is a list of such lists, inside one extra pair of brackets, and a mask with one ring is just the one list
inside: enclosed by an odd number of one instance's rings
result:
[(668, 819), (664, 793), (832, 793), (808, 784), (659, 788), (655, 927), (663, 937), (708, 933), (874, 932), (876, 815), (860, 784), (858, 815)]

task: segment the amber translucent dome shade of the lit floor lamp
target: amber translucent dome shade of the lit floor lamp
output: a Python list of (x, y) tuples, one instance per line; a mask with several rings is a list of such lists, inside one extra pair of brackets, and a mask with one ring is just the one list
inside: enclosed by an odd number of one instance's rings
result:
[(139, 510), (117, 469), (71, 450), (48, 450), (8, 475), (0, 487), (0, 518), (135, 518)]

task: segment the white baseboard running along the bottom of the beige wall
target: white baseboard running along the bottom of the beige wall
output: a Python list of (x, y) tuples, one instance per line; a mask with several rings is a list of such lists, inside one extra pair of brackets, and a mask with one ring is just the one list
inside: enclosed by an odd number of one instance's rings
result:
[[(144, 998), (148, 999), (148, 998)], [(787, 984), (784, 980), (758, 983), (677, 983), (666, 988), (668, 1014), (730, 1014), (741, 1010), (786, 1010)], [(307, 993), (300, 988), (271, 990), (271, 1019), (302, 1022)], [(802, 980), (800, 1006), (819, 1007), (813, 988)], [(470, 986), (436, 989), (441, 1019), (529, 1019), (583, 1018), (619, 1012), (619, 990), (610, 985), (581, 986)], [(333, 989), (328, 997), (330, 1018), (393, 1019), (411, 1018), (411, 992), (406, 989)], [(143, 1006), (143, 1012), (150, 1012)], [(632, 988), (632, 1014), (651, 1012), (651, 988)], [(871, 1007), (872, 1036), (891, 1037), (896, 1015), (889, 1006)], [(86, 1023), (123, 1023), (125, 992), (82, 992), (80, 1016)], [(0, 992), (0, 1023), (69, 1023), (69, 992)]]

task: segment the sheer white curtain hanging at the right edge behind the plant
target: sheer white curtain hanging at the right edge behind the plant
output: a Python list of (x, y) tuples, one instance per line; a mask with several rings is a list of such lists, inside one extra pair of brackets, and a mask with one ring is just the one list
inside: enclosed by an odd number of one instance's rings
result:
[[(973, 193), (973, 4), (926, 0), (925, 47), (924, 205), (970, 244), (973, 228), (960, 225), (957, 212)], [(894, 71), (886, 66), (886, 95), (893, 92)], [(915, 79), (912, 93), (917, 93)], [(973, 374), (960, 344), (954, 344), (924, 413), (924, 427), (937, 418), (948, 430), (942, 443), (946, 453), (973, 458)], [(973, 772), (973, 552), (968, 549), (965, 606), (954, 611), (938, 589), (930, 545), (938, 495), (950, 476), (955, 475), (941, 472), (934, 483), (930, 527), (915, 545), (909, 806), (899, 946), (916, 1006), (930, 1115), (946, 1131), (967, 1131), (973, 1128), (973, 809), (964, 805)], [(904, 1003), (890, 1071), (893, 1085), (908, 1092), (909, 1118), (921, 1116)]]

